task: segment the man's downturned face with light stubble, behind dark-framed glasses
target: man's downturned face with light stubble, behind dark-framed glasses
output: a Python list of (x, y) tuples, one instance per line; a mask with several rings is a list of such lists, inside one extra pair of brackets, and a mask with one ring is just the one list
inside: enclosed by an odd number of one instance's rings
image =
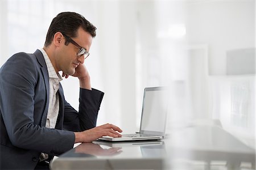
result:
[[(89, 52), (90, 45), (92, 44), (92, 36), (84, 31), (84, 29), (79, 28), (77, 30), (77, 37), (71, 39)], [(77, 57), (77, 52), (79, 52), (80, 48), (71, 42), (65, 45), (65, 41), (66, 39), (64, 38), (58, 50), (56, 66), (58, 70), (63, 71), (65, 74), (73, 75), (75, 74), (76, 67), (84, 63), (84, 55)]]

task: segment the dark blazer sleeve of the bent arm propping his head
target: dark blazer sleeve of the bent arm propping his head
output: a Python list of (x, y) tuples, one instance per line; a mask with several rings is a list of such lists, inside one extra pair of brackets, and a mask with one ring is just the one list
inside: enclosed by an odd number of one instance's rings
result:
[(103, 96), (104, 92), (94, 88), (92, 90), (80, 88), (79, 112), (65, 101), (64, 129), (84, 131), (94, 128)]

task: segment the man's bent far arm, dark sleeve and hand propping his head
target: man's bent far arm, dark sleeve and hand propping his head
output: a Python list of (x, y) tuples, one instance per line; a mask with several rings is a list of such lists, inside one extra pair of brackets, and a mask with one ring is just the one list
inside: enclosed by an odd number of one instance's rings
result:
[[(68, 78), (69, 75), (63, 73), (62, 76)], [(77, 77), (80, 83), (79, 112), (65, 101), (64, 129), (83, 131), (94, 128), (104, 93), (91, 87), (90, 75), (84, 64), (80, 63), (72, 76)]]

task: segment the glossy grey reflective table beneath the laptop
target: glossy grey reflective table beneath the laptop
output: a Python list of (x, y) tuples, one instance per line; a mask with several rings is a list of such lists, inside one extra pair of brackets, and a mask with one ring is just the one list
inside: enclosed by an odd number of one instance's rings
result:
[(185, 128), (163, 141), (94, 141), (61, 155), (52, 169), (255, 169), (255, 150), (217, 126)]

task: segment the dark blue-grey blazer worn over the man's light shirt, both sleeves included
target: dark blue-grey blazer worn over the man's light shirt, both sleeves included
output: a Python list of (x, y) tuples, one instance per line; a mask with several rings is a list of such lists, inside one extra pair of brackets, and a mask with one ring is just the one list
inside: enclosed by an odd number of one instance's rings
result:
[[(72, 90), (72, 88), (71, 88)], [(49, 77), (40, 50), (18, 53), (0, 69), (1, 169), (34, 169), (39, 155), (59, 155), (73, 147), (75, 134), (96, 126), (104, 93), (80, 88), (79, 112), (59, 88), (55, 129), (48, 129)]]

